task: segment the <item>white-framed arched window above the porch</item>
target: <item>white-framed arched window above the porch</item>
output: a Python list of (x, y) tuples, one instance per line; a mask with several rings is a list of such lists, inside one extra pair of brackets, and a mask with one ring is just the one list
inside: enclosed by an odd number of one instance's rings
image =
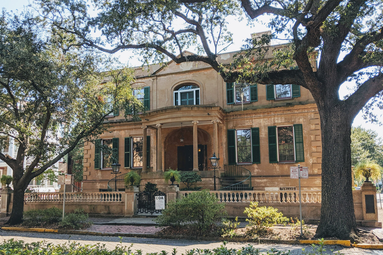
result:
[(173, 93), (175, 106), (199, 105), (199, 87), (197, 85), (183, 85)]

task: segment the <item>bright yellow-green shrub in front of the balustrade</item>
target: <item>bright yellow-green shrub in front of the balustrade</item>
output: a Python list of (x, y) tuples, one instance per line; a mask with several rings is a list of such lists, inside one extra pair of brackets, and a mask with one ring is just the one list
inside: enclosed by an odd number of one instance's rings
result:
[(250, 206), (246, 207), (243, 213), (248, 217), (246, 221), (249, 223), (250, 231), (248, 234), (250, 235), (265, 235), (272, 226), (288, 222), (282, 213), (278, 213), (278, 209), (271, 206), (258, 207), (257, 202), (250, 202)]

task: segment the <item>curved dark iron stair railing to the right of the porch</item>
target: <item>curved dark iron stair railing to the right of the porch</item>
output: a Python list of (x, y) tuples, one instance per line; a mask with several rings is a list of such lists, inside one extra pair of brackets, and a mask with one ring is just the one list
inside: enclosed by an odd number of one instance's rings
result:
[(238, 165), (224, 165), (224, 172), (220, 178), (219, 190), (253, 190), (251, 186), (251, 172)]

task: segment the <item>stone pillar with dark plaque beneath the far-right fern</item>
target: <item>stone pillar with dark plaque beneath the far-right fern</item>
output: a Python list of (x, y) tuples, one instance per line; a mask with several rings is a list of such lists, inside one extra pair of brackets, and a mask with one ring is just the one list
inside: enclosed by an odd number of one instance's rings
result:
[(363, 226), (382, 227), (378, 221), (377, 189), (372, 182), (365, 182), (361, 187)]

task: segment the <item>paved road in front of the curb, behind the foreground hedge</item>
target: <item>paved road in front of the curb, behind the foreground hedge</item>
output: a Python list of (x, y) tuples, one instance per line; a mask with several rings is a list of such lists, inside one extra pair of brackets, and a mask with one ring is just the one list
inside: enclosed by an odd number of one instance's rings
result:
[[(103, 237), (103, 236), (80, 236), (80, 235), (64, 235), (64, 234), (49, 234), (49, 233), (28, 233), (28, 232), (13, 232), (0, 230), (0, 240), (23, 240), (24, 242), (39, 242), (45, 240), (52, 244), (63, 244), (68, 241), (75, 241), (80, 244), (94, 245), (96, 243), (105, 244), (107, 249), (112, 250), (116, 245), (119, 245), (118, 237)], [(189, 241), (189, 240), (168, 240), (168, 239), (152, 239), (152, 238), (123, 238), (123, 245), (133, 245), (133, 250), (142, 250), (143, 254), (167, 251), (171, 254), (173, 248), (177, 248), (178, 255), (185, 254), (186, 250), (191, 249), (213, 249), (219, 247), (222, 243), (210, 241)], [(247, 243), (228, 243), (228, 248), (240, 248), (246, 246)], [(291, 251), (291, 255), (301, 255), (302, 248), (308, 251), (309, 246), (303, 245), (279, 245), (279, 244), (252, 244), (255, 248), (261, 251), (268, 251), (275, 248), (280, 251)], [(334, 249), (340, 251), (344, 255), (383, 255), (383, 251), (362, 250), (357, 248), (343, 248), (339, 246), (326, 246), (327, 251)]]

